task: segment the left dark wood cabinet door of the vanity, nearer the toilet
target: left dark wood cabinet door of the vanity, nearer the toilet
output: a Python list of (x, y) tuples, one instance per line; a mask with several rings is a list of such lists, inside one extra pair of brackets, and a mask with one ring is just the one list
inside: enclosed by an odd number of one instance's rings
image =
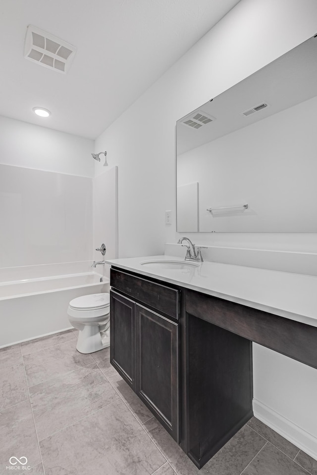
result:
[(135, 390), (135, 302), (110, 290), (110, 363)]

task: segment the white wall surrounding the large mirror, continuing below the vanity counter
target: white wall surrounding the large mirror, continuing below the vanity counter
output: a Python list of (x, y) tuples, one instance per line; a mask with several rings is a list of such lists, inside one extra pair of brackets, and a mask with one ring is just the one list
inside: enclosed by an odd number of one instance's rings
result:
[[(176, 120), (316, 33), (316, 0), (241, 0), (96, 140), (95, 150), (106, 149), (109, 164), (120, 170), (120, 257), (159, 254), (164, 242), (178, 238), (175, 219), (173, 226), (164, 225), (164, 210), (173, 210), (175, 217)], [(95, 166), (99, 174), (102, 164)], [(314, 234), (193, 237), (196, 243), (317, 251)], [(270, 361), (254, 345), (255, 394), (276, 413), (281, 401), (287, 401), (287, 416), (281, 417), (289, 417), (305, 433), (313, 430), (315, 452), (307, 450), (317, 457), (317, 424), (307, 424), (310, 417), (316, 418), (316, 406), (302, 397), (305, 391), (317, 393), (317, 370), (307, 373), (288, 358), (281, 365), (278, 355), (269, 353)], [(278, 378), (272, 377), (272, 365)]]

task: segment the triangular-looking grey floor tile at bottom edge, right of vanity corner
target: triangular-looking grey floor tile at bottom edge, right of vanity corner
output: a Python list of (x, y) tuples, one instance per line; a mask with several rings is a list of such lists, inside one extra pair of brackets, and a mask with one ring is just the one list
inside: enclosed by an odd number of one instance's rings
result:
[(255, 459), (242, 472), (243, 475), (307, 475), (306, 470), (297, 465), (283, 452), (266, 443)]

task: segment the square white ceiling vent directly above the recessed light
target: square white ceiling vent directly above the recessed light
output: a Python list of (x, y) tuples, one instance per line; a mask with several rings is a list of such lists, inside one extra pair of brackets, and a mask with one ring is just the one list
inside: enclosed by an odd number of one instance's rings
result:
[(67, 73), (76, 48), (56, 36), (29, 25), (26, 30), (24, 57), (35, 63)]

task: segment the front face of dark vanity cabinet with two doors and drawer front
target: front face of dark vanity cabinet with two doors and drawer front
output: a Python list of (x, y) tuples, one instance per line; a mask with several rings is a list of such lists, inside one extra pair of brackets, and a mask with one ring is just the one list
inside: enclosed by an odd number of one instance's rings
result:
[(111, 269), (110, 363), (179, 441), (179, 290)]

